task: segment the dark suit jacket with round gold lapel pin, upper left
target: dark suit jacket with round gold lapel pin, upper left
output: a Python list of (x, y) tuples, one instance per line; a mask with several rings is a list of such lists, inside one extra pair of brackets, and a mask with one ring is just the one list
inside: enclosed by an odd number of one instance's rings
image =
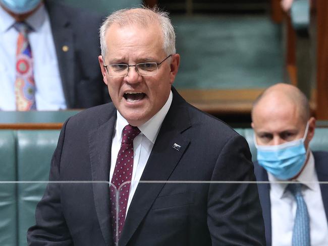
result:
[[(101, 17), (45, 1), (68, 108), (87, 108), (110, 101), (98, 63)], [(63, 46), (68, 47), (67, 51)]]

